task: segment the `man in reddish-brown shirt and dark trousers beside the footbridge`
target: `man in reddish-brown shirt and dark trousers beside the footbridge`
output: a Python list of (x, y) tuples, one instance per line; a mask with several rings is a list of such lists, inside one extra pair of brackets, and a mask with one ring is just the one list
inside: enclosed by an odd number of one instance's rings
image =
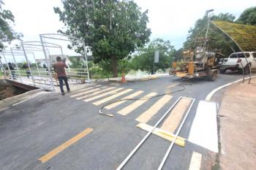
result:
[(65, 95), (65, 92), (63, 90), (63, 80), (65, 82), (65, 85), (67, 87), (67, 92), (70, 91), (69, 89), (69, 83), (67, 82), (67, 74), (65, 71), (65, 68), (67, 68), (67, 65), (64, 61), (61, 61), (61, 57), (56, 58), (57, 63), (53, 65), (53, 71), (57, 73), (58, 79), (59, 79), (59, 87), (61, 88), (62, 95)]

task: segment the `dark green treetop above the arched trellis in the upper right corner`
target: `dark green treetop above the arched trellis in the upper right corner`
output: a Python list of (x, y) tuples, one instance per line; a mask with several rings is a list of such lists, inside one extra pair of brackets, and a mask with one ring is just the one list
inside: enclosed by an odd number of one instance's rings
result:
[(236, 23), (244, 23), (247, 25), (256, 26), (256, 7), (250, 7), (241, 13)]

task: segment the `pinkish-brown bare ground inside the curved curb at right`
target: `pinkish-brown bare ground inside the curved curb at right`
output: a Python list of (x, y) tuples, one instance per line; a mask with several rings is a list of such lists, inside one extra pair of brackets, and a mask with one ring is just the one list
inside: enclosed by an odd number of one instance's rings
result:
[(256, 79), (225, 91), (219, 109), (221, 155), (224, 170), (255, 169)]

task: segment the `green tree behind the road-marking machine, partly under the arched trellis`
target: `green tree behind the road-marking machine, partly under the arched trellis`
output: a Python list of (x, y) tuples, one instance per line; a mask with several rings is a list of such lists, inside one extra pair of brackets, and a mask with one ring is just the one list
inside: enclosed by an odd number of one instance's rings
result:
[[(219, 15), (211, 16), (211, 20), (225, 20), (228, 22), (234, 22), (236, 17), (229, 13), (220, 13)], [(187, 41), (184, 42), (184, 48), (189, 49), (190, 47), (195, 48), (199, 45), (200, 39), (205, 37), (207, 28), (207, 16), (200, 18), (196, 21), (195, 27), (189, 29), (189, 36), (187, 36)], [(233, 53), (230, 47), (237, 50), (236, 45), (230, 39), (227, 39), (221, 31), (219, 31), (214, 25), (210, 24), (208, 30), (208, 37), (211, 39), (208, 44), (209, 50), (218, 50), (218, 52), (225, 55), (230, 55)]]

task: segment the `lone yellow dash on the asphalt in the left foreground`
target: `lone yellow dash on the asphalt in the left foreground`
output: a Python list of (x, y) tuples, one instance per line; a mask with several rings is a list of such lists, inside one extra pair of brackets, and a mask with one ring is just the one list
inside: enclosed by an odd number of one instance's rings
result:
[(78, 142), (78, 140), (80, 140), (87, 134), (90, 134), (93, 130), (94, 129), (92, 128), (86, 128), (86, 130), (82, 131), (80, 134), (74, 136), (72, 139), (69, 139), (67, 142), (64, 142), (63, 144), (59, 145), (59, 147), (56, 147), (55, 149), (51, 150), (46, 155), (43, 155), (41, 158), (39, 158), (39, 161), (41, 161), (42, 163), (49, 161), (51, 158), (59, 154), (59, 152), (65, 150), (70, 145), (75, 144), (75, 142)]

